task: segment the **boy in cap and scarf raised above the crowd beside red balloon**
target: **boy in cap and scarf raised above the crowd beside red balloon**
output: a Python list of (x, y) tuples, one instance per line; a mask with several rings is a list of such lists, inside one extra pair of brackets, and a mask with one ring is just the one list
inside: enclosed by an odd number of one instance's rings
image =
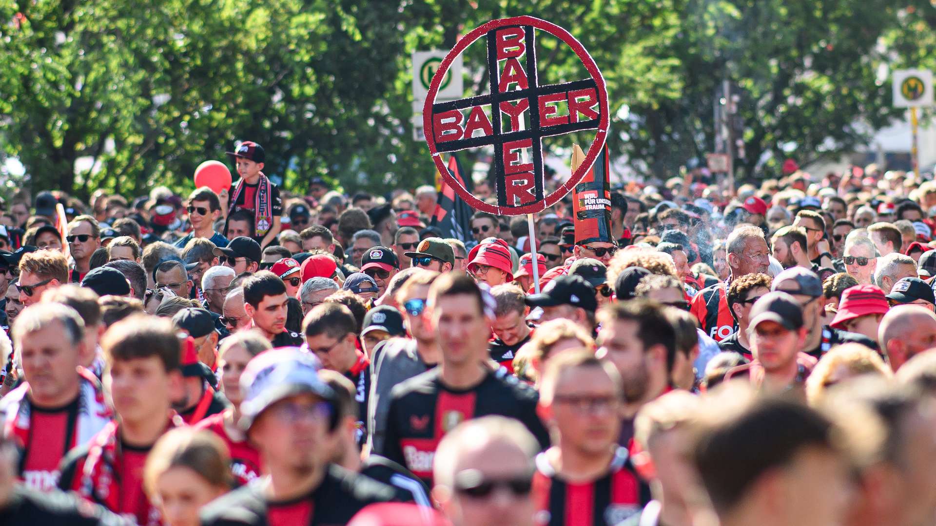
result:
[(254, 239), (263, 248), (276, 239), (282, 227), (283, 200), (280, 198), (280, 188), (260, 171), (266, 153), (256, 142), (245, 140), (234, 152), (227, 154), (234, 157), (237, 172), (241, 176), (241, 180), (234, 185), (227, 214), (241, 210), (253, 212), (256, 227)]

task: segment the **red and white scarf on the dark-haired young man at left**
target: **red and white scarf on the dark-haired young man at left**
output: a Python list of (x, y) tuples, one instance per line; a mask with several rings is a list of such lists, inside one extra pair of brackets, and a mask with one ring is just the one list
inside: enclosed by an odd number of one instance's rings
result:
[[(175, 412), (168, 419), (166, 431), (173, 428), (184, 427), (182, 416)], [(102, 504), (110, 510), (120, 508), (121, 486), (120, 479), (120, 427), (116, 421), (111, 421), (101, 432), (97, 433), (91, 441), (88, 456), (84, 460), (78, 484), (78, 494), (94, 503)], [(151, 503), (146, 514), (147, 523), (141, 526), (159, 526), (159, 510)]]

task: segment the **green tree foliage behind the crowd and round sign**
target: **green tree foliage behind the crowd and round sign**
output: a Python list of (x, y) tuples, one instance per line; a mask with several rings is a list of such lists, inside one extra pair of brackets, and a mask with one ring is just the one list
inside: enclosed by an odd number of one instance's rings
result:
[[(136, 196), (190, 188), (198, 163), (253, 139), (289, 190), (316, 175), (413, 187), (434, 168), (412, 139), (410, 53), (519, 14), (591, 51), (613, 151), (656, 175), (712, 151), (725, 78), (742, 95), (740, 174), (757, 175), (860, 144), (900, 115), (887, 66), (936, 56), (922, 0), (0, 0), (0, 160), (19, 157), (33, 190)], [(548, 79), (582, 76), (567, 48), (539, 46)], [(489, 75), (482, 53), (466, 55), (466, 95)]]

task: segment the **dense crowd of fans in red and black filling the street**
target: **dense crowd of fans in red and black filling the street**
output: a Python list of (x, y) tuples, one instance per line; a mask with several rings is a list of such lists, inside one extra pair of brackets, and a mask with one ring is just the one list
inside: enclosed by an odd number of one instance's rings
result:
[(0, 523), (936, 520), (936, 183), (696, 169), (457, 239), (229, 155), (0, 203)]

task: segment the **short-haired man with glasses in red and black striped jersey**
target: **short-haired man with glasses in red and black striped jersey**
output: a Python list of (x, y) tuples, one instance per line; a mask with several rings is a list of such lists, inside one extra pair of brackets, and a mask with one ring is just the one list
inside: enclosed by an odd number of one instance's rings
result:
[(617, 444), (621, 404), (621, 375), (591, 351), (565, 351), (548, 362), (539, 412), (555, 446), (536, 457), (540, 524), (573, 526), (585, 517), (618, 524), (650, 502), (650, 488)]

